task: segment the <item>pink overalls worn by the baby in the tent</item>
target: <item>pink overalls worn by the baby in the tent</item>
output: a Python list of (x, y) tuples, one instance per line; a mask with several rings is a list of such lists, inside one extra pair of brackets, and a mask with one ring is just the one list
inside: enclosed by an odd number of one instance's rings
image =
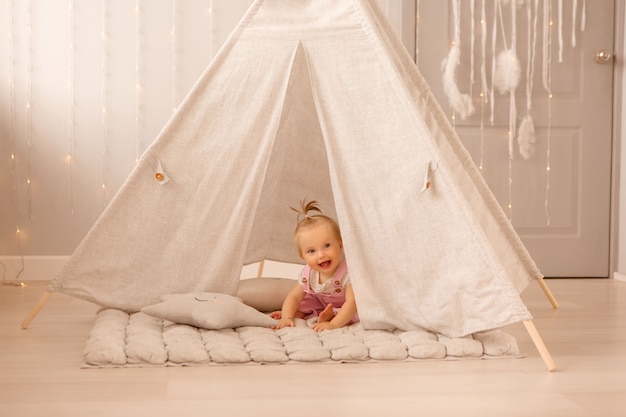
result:
[[(337, 314), (343, 303), (346, 302), (346, 289), (342, 285), (343, 279), (348, 273), (348, 266), (346, 261), (343, 260), (337, 267), (335, 274), (331, 278), (333, 282), (333, 291), (330, 294), (323, 294), (315, 292), (311, 288), (311, 267), (306, 266), (302, 270), (302, 279), (300, 285), (305, 292), (304, 299), (298, 307), (298, 311), (304, 313), (304, 318), (309, 319), (311, 317), (318, 316), (328, 303), (333, 305), (333, 312)], [(359, 315), (355, 314), (350, 323), (356, 323), (359, 321)]]

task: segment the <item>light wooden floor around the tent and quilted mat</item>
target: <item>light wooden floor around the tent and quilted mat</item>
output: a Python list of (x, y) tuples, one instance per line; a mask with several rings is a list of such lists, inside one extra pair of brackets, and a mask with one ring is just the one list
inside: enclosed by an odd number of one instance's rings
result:
[(81, 369), (97, 307), (46, 283), (0, 287), (0, 416), (626, 416), (626, 283), (547, 280), (523, 299), (553, 355), (522, 324), (523, 359)]

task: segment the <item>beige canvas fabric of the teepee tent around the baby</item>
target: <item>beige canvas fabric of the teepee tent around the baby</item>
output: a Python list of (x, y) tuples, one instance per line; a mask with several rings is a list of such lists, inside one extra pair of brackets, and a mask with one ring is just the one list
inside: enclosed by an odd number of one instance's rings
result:
[(130, 311), (233, 294), (244, 264), (299, 261), (305, 196), (338, 219), (366, 328), (530, 319), (540, 272), (365, 0), (256, 1), (50, 290)]

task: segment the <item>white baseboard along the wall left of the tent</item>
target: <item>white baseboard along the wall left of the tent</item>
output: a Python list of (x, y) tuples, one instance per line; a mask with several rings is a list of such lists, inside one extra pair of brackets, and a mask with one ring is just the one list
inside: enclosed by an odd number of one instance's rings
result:
[(68, 259), (69, 256), (0, 256), (0, 279), (50, 281)]

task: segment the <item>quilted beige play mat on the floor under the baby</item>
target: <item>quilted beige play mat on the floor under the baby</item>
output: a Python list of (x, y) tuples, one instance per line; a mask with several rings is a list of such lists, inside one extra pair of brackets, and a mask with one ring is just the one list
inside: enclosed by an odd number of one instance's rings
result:
[(199, 366), (519, 358), (502, 330), (448, 338), (425, 330), (365, 330), (359, 324), (316, 333), (296, 327), (241, 326), (209, 330), (143, 312), (103, 309), (84, 350), (84, 367)]

